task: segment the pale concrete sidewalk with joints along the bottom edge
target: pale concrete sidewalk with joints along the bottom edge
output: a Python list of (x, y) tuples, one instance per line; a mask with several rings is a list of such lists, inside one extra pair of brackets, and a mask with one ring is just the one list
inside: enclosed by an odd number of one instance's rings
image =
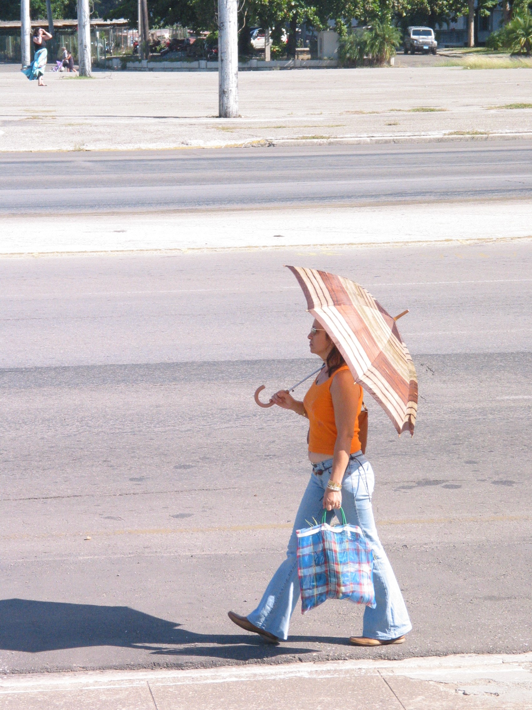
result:
[(11, 675), (3, 710), (524, 710), (532, 652), (400, 661)]

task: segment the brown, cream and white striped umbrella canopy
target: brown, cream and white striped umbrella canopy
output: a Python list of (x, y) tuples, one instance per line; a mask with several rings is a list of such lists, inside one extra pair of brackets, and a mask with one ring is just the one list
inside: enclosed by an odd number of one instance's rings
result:
[(307, 310), (323, 325), (355, 381), (377, 400), (399, 434), (414, 434), (416, 368), (394, 318), (360, 284), (313, 268), (289, 266)]

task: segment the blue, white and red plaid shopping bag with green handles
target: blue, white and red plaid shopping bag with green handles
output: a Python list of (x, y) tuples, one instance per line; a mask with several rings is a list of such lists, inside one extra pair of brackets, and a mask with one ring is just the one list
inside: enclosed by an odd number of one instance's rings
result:
[(301, 613), (326, 599), (350, 599), (375, 608), (373, 552), (358, 525), (320, 525), (297, 530)]

